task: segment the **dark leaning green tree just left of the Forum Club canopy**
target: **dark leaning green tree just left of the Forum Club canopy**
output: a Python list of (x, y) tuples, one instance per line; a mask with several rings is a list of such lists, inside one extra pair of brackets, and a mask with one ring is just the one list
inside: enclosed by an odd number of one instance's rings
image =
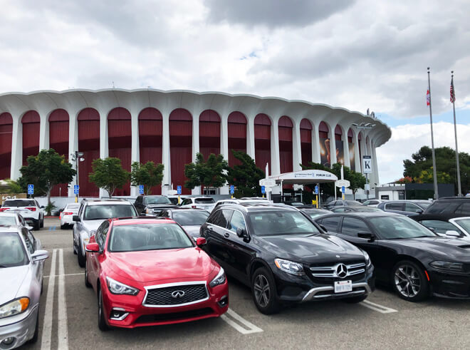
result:
[(229, 168), (227, 180), (230, 185), (236, 188), (235, 197), (259, 197), (261, 196), (261, 186), (259, 180), (266, 175), (256, 166), (253, 158), (239, 150), (231, 150), (234, 157), (241, 162), (241, 165), (234, 165)]

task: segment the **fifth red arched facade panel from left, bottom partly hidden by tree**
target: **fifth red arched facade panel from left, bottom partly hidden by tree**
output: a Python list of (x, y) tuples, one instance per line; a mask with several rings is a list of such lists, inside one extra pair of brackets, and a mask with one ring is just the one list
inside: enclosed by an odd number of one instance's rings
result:
[[(132, 123), (129, 110), (117, 107), (108, 114), (108, 148), (110, 157), (121, 160), (122, 169), (130, 171)], [(114, 195), (130, 195), (130, 182), (115, 190)]]

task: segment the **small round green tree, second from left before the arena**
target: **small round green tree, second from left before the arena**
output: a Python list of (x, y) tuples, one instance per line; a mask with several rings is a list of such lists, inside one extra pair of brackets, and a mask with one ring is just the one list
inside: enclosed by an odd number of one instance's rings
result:
[(119, 158), (108, 157), (105, 159), (95, 159), (92, 163), (93, 173), (88, 177), (96, 187), (103, 188), (108, 192), (109, 197), (117, 188), (122, 188), (129, 180), (130, 173), (122, 169), (121, 160)]

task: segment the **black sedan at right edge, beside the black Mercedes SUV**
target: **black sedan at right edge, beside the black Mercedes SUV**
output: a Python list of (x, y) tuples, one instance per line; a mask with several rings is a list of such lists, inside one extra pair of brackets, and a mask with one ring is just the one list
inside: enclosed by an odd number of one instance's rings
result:
[(325, 215), (315, 222), (369, 253), (377, 283), (391, 284), (402, 299), (470, 298), (470, 245), (464, 240), (439, 237), (387, 212)]

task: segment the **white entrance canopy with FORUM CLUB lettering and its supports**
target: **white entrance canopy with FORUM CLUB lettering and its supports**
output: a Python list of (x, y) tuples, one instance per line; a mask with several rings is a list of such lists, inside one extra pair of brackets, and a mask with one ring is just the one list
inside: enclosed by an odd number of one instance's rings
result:
[[(313, 184), (315, 184), (319, 188), (321, 183), (335, 182), (338, 180), (338, 177), (335, 174), (330, 173), (325, 170), (299, 170), (299, 171), (293, 171), (292, 173), (283, 173), (280, 175), (273, 175), (273, 176), (270, 176), (269, 178), (276, 181), (276, 185), (278, 185), (277, 186), (278, 190), (276, 191), (276, 189), (273, 188), (273, 195), (280, 193), (281, 201), (285, 199), (283, 195), (283, 185), (294, 185), (293, 186), (294, 190), (296, 189), (296, 186), (303, 188), (303, 185), (313, 185)], [(318, 190), (318, 192), (320, 192), (320, 190)], [(302, 194), (301, 194), (301, 201), (302, 201)], [(318, 207), (320, 207), (320, 203), (318, 203)]]

